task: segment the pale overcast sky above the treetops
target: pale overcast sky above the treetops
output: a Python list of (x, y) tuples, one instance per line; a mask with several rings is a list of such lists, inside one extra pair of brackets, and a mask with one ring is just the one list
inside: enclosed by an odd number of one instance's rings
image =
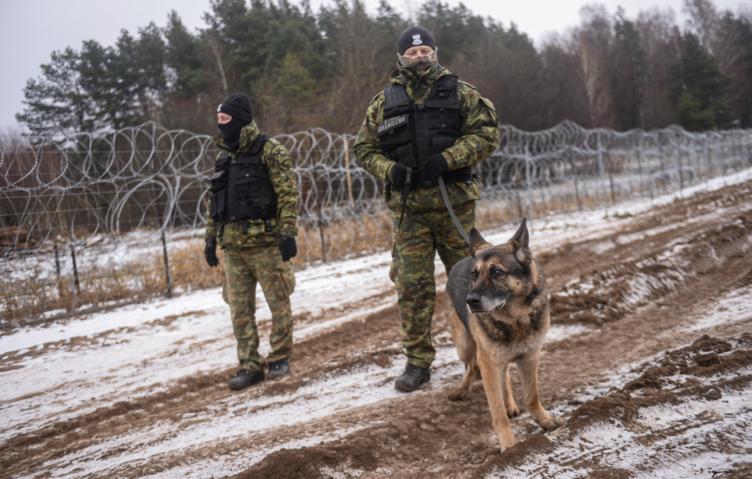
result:
[[(295, 2), (296, 0), (292, 0)], [(417, 11), (420, 3), (389, 0), (403, 14)], [(326, 0), (311, 0), (318, 10)], [(373, 11), (378, 0), (365, 0)], [(458, 1), (448, 1), (452, 5)], [(579, 10), (593, 0), (466, 0), (474, 13), (516, 23), (536, 43), (550, 32), (563, 32), (578, 23)], [(610, 12), (623, 5), (629, 17), (653, 6), (672, 8), (681, 14), (682, 0), (601, 0)], [(715, 0), (720, 8), (738, 11), (751, 8), (752, 0)], [(0, 129), (16, 125), (15, 114), (23, 108), (23, 88), (29, 78), (39, 75), (39, 65), (50, 59), (53, 50), (79, 49), (81, 42), (95, 39), (104, 45), (114, 43), (121, 29), (136, 32), (155, 22), (164, 26), (167, 13), (177, 10), (190, 29), (203, 27), (203, 12), (209, 0), (0, 0)], [(395, 39), (396, 41), (396, 39)], [(441, 39), (437, 39), (441, 44)]]

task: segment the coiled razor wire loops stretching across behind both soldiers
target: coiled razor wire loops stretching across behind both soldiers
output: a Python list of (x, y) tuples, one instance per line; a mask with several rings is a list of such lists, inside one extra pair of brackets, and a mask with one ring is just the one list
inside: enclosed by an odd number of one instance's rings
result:
[[(475, 173), (483, 204), (520, 215), (548, 202), (583, 208), (593, 199), (652, 197), (752, 166), (752, 130), (616, 132), (566, 121), (536, 132), (504, 125), (501, 137), (501, 147)], [(315, 128), (275, 139), (295, 165), (301, 226), (321, 231), (386, 211), (383, 185), (354, 161), (353, 135)], [(34, 252), (53, 241), (201, 228), (205, 179), (217, 153), (208, 135), (154, 122), (0, 145), (0, 255)]]

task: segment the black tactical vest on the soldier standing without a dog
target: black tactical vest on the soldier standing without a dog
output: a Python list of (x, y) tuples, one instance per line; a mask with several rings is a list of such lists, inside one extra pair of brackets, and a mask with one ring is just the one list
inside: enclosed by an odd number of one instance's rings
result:
[(262, 160), (266, 140), (266, 136), (260, 135), (234, 160), (225, 155), (217, 161), (214, 174), (209, 178), (212, 220), (230, 223), (276, 216), (277, 196)]

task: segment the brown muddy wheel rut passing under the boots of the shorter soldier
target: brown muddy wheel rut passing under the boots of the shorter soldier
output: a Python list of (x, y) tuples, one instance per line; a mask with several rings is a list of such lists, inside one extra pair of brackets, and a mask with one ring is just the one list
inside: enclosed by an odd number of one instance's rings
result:
[[(253, 399), (295, 390), (318, 376), (339, 369), (337, 358), (344, 359), (342, 356), (346, 354), (343, 351), (348, 347), (361, 343), (366, 349), (367, 346), (373, 347), (374, 342), (384, 342), (391, 346), (398, 324), (395, 305), (361, 321), (351, 321), (298, 342), (293, 358), (295, 374), (281, 381), (263, 383), (262, 387), (246, 391), (243, 396), (227, 390), (226, 380), (235, 370), (234, 367), (227, 368), (184, 378), (164, 391), (120, 401), (30, 434), (15, 436), (2, 444), (5, 452), (0, 459), (0, 470), (13, 473), (33, 469), (45, 461), (70, 454), (72, 450), (83, 449), (134, 428), (148, 427), (159, 421), (177, 423), (185, 410), (208, 411), (212, 404), (228, 397)], [(347, 361), (341, 362), (355, 367), (366, 361), (365, 358), (349, 357)], [(319, 372), (308, 367), (320, 364), (325, 366)], [(28, 454), (32, 448), (47, 452)]]

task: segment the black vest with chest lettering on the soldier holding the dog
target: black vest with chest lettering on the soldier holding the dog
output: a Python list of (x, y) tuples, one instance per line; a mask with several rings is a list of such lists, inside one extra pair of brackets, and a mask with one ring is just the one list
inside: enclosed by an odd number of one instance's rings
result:
[[(424, 166), (429, 156), (441, 153), (462, 136), (457, 76), (445, 75), (434, 83), (425, 103), (416, 105), (403, 85), (384, 89), (384, 121), (376, 132), (379, 144), (392, 161), (415, 172), (413, 187), (435, 186)], [(471, 178), (470, 168), (444, 173), (446, 183)]]

